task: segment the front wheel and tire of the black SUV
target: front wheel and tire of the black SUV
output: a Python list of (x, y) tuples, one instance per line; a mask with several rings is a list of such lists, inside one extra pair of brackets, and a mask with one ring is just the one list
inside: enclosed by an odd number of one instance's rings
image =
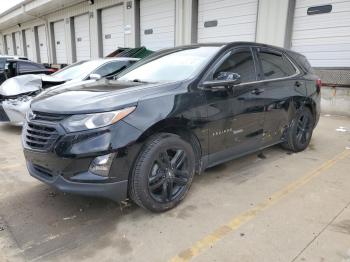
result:
[(184, 199), (195, 173), (192, 146), (179, 136), (152, 136), (135, 162), (129, 187), (130, 198), (152, 212), (174, 208)]

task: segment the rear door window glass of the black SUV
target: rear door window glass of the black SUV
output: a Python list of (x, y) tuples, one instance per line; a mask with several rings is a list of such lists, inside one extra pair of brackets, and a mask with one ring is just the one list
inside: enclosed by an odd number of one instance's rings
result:
[(276, 79), (295, 74), (295, 68), (282, 54), (260, 51), (259, 58), (264, 79)]

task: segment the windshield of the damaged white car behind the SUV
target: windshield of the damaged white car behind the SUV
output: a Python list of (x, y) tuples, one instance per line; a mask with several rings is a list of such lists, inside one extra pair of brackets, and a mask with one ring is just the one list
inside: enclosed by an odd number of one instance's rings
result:
[(97, 67), (105, 63), (105, 61), (81, 61), (77, 62), (73, 65), (67, 66), (56, 73), (52, 74), (52, 76), (62, 79), (64, 81), (69, 81), (72, 79), (80, 79), (83, 80), (87, 77), (91, 72), (93, 72)]

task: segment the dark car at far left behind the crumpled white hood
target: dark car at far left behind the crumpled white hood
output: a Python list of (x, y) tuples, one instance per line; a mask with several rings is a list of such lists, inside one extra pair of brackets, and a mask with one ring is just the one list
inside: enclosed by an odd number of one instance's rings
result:
[(27, 74), (52, 74), (51, 68), (46, 68), (29, 60), (0, 58), (0, 84), (9, 78)]

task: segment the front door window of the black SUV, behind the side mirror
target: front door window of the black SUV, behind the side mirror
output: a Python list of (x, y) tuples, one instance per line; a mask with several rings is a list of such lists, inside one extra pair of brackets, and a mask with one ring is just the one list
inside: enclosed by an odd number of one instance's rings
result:
[(238, 74), (241, 83), (256, 81), (254, 59), (249, 49), (233, 51), (215, 70), (213, 78), (219, 80), (222, 75), (228, 73)]

